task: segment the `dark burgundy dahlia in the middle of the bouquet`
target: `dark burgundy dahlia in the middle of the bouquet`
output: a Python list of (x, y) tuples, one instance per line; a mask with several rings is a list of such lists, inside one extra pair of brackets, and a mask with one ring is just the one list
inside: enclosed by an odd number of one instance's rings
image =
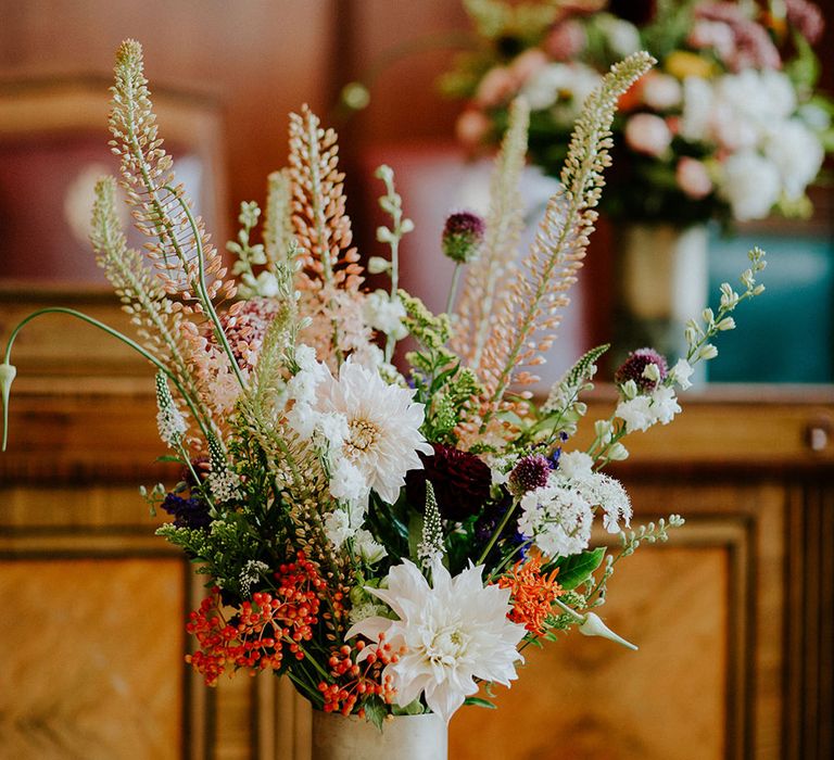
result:
[(490, 497), (492, 472), (475, 454), (441, 443), (431, 444), (434, 454), (419, 454), (424, 469), (409, 470), (405, 493), (418, 509), (426, 504), (426, 481), (430, 480), (441, 517), (465, 520), (478, 515)]

